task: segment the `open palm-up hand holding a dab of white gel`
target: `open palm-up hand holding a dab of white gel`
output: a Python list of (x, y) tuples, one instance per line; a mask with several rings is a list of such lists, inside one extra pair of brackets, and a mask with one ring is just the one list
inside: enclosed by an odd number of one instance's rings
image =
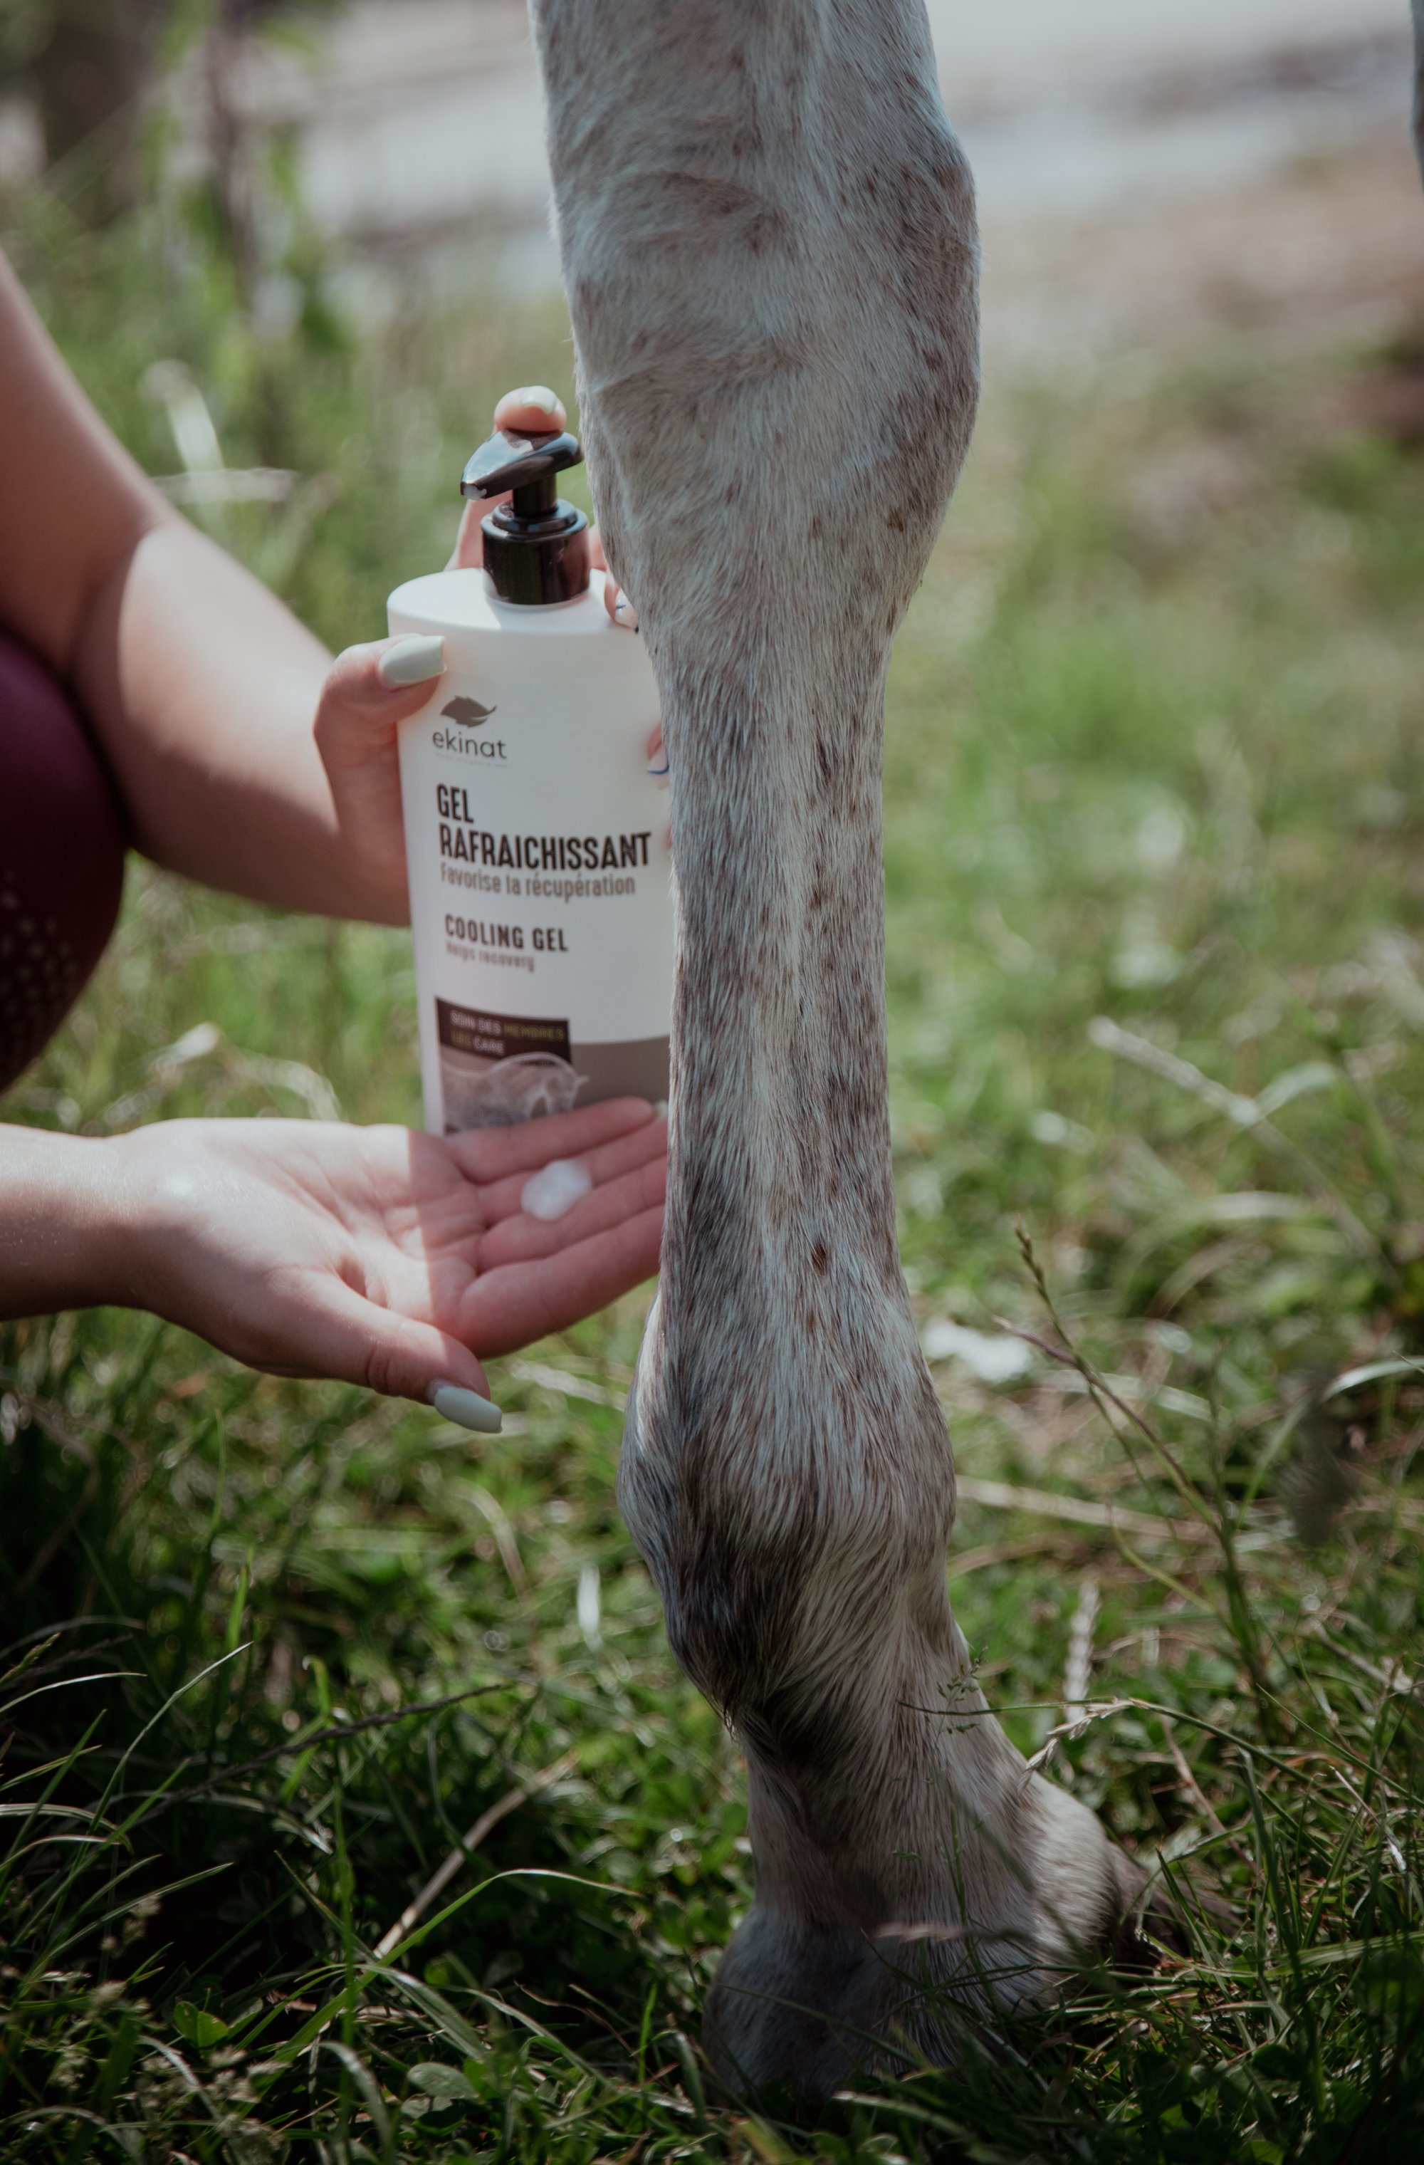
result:
[[(126, 1299), (275, 1375), (485, 1392), (478, 1355), (658, 1269), (667, 1128), (632, 1098), (448, 1139), (264, 1119), (123, 1141), (141, 1197)], [(554, 1158), (578, 1158), (593, 1189), (543, 1221), (519, 1197)]]

